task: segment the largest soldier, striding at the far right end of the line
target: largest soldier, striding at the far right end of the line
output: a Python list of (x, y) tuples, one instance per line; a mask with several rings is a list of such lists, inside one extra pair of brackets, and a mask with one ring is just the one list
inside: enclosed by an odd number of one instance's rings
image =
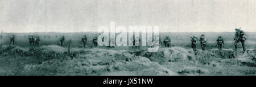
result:
[(236, 30), (236, 37), (234, 38), (234, 46), (235, 46), (235, 49), (234, 50), (237, 50), (237, 43), (238, 42), (241, 42), (242, 43), (242, 47), (243, 47), (243, 53), (245, 53), (246, 49), (245, 49), (245, 40), (246, 38), (244, 37), (245, 35), (245, 32), (243, 32), (240, 29), (235, 29)]

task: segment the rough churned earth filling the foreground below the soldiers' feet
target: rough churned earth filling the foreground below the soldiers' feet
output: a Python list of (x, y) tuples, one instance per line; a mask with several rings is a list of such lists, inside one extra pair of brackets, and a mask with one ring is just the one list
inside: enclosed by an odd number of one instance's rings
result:
[(0, 75), (256, 75), (255, 49), (0, 46)]

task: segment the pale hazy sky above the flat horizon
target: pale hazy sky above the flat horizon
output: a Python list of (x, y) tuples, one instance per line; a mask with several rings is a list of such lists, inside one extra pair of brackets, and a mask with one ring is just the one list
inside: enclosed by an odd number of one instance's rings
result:
[(256, 0), (1, 0), (3, 32), (88, 32), (101, 25), (162, 32), (256, 32)]

